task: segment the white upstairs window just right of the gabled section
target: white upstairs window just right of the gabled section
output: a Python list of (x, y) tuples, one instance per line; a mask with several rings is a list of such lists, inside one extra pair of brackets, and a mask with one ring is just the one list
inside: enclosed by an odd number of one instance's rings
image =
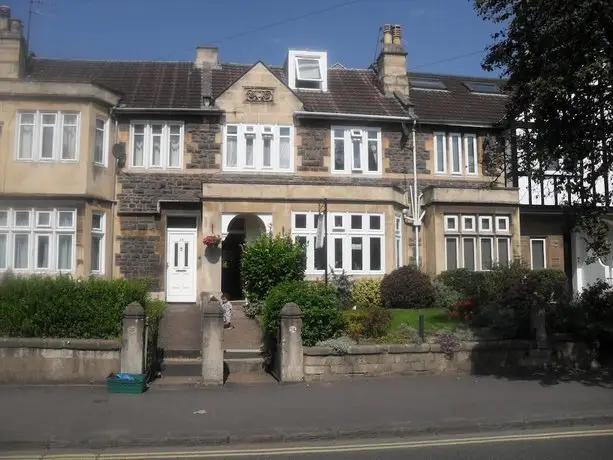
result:
[(381, 174), (381, 130), (333, 127), (332, 148), (332, 172)]

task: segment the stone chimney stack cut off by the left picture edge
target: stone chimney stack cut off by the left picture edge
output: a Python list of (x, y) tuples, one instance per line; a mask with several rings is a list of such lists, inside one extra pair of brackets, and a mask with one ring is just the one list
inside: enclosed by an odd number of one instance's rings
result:
[(11, 18), (11, 9), (0, 6), (0, 79), (19, 79), (25, 71), (27, 47), (21, 20)]

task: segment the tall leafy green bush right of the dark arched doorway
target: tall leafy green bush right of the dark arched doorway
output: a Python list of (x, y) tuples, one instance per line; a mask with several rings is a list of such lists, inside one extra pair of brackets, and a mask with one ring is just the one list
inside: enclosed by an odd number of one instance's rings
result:
[(243, 248), (241, 276), (250, 302), (262, 301), (283, 281), (304, 279), (306, 248), (291, 236), (262, 233)]

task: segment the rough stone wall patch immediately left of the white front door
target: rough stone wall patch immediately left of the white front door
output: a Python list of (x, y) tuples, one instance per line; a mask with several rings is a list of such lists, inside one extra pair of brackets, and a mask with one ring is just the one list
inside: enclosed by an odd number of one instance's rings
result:
[(163, 289), (163, 254), (161, 222), (154, 215), (119, 216), (121, 235), (115, 263), (125, 278), (150, 278), (150, 289)]

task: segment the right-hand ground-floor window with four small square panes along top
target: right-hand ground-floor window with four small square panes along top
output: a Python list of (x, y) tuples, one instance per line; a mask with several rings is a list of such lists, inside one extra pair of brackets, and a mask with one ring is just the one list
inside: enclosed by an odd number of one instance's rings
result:
[(510, 264), (510, 216), (452, 214), (443, 221), (445, 270), (491, 270)]

